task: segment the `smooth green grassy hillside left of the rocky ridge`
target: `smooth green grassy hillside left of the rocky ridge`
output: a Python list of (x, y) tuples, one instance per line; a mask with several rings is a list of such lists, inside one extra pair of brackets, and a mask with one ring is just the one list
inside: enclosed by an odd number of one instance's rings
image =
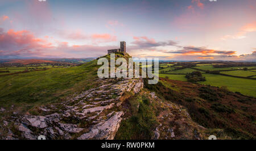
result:
[(73, 68), (55, 68), (0, 77), (0, 106), (47, 103), (93, 86), (97, 60)]

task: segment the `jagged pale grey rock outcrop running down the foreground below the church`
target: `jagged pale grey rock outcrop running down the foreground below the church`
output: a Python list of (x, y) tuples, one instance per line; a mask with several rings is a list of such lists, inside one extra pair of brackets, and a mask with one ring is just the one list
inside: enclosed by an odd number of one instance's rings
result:
[[(42, 115), (16, 115), (19, 133), (2, 139), (114, 139), (125, 114), (119, 106), (126, 91), (136, 94), (140, 78), (99, 78), (101, 86), (83, 91), (62, 103), (40, 106)], [(52, 114), (50, 114), (52, 113)], [(3, 125), (7, 127), (8, 121)]]

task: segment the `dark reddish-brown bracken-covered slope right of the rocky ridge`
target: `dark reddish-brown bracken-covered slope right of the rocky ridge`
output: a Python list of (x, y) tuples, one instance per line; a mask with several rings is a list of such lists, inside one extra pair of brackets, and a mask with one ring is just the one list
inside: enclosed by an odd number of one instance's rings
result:
[(207, 128), (223, 128), (233, 139), (255, 139), (255, 98), (213, 86), (160, 80), (151, 86), (152, 90), (159, 97), (186, 107), (198, 124)]

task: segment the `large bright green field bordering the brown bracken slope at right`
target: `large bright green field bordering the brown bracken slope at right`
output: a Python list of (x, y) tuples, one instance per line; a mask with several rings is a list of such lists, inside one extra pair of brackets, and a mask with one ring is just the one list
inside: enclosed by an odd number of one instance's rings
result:
[(204, 85), (226, 86), (230, 91), (240, 92), (245, 95), (256, 97), (256, 80), (227, 77), (217, 74), (203, 74), (206, 81), (199, 82)]

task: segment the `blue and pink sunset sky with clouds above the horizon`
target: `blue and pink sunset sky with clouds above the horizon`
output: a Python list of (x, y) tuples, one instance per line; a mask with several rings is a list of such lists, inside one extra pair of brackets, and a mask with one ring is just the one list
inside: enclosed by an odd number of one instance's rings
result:
[(255, 0), (1, 0), (0, 58), (256, 60)]

